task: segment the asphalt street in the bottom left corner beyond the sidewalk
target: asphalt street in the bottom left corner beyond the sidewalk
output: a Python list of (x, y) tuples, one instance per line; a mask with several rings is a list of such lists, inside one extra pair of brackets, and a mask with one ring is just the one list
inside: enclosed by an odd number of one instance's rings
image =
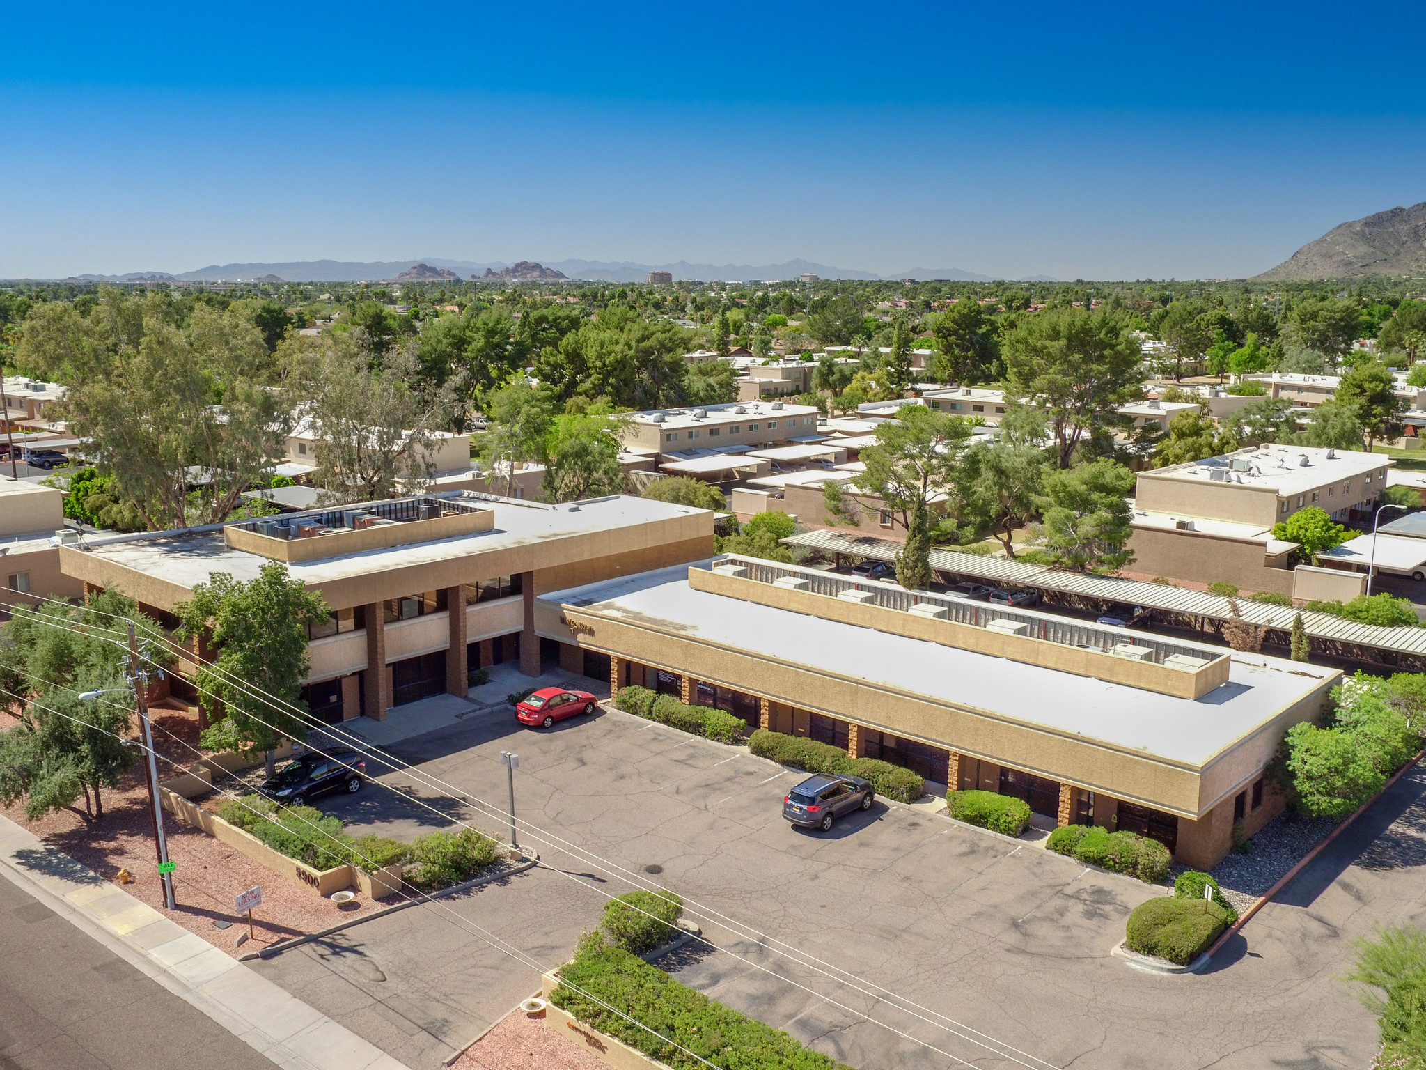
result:
[(0, 876), (0, 1070), (272, 1070)]

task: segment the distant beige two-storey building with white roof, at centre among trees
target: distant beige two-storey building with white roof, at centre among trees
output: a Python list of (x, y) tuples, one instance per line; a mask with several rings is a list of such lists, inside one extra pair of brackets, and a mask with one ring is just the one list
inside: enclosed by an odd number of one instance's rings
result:
[(783, 401), (734, 401), (700, 408), (633, 412), (625, 447), (639, 452), (766, 447), (817, 434), (817, 407)]

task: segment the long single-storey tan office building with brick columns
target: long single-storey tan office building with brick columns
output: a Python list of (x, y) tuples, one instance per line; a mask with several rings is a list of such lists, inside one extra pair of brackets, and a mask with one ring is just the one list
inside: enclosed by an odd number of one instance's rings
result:
[[(720, 558), (540, 595), (562, 663), (810, 736), (1208, 869), (1282, 810), (1268, 763), (1332, 668)], [(930, 790), (938, 790), (933, 788)]]

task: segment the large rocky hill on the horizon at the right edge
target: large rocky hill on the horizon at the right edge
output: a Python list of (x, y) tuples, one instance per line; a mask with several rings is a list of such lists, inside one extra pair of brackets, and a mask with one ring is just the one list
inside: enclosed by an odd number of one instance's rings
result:
[(1426, 201), (1343, 223), (1303, 245), (1262, 280), (1426, 274)]

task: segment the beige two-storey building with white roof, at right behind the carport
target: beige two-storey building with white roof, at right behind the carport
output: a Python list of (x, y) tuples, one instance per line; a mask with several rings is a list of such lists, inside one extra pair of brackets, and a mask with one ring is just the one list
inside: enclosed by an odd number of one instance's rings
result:
[(1132, 568), (1293, 595), (1298, 546), (1275, 539), (1273, 525), (1306, 508), (1335, 521), (1365, 515), (1393, 464), (1380, 454), (1262, 445), (1139, 472)]

